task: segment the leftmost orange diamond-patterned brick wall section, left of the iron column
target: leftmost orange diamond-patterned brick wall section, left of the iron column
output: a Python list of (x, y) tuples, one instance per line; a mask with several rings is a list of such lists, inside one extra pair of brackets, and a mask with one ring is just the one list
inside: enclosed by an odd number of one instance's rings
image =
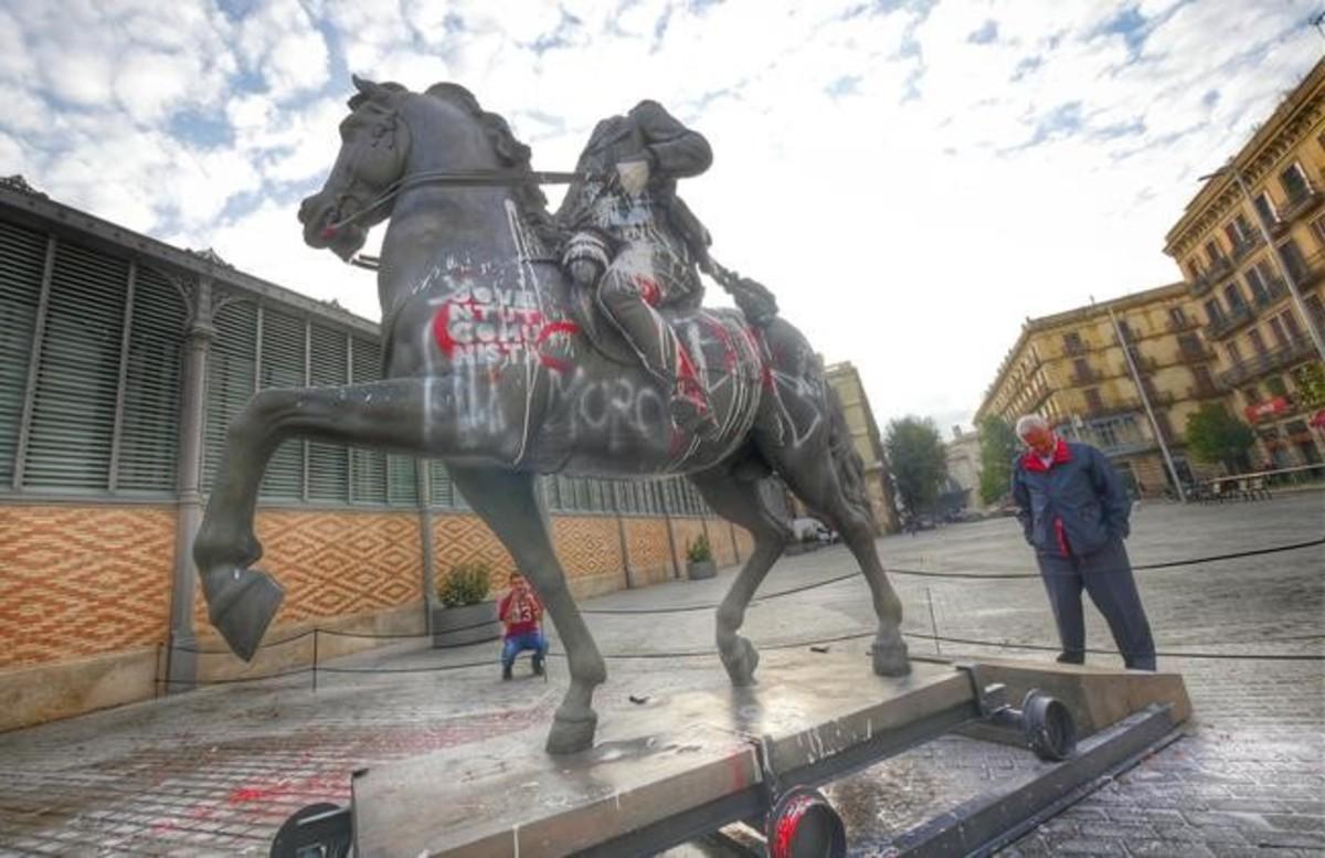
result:
[(0, 667), (164, 640), (175, 511), (0, 506)]

